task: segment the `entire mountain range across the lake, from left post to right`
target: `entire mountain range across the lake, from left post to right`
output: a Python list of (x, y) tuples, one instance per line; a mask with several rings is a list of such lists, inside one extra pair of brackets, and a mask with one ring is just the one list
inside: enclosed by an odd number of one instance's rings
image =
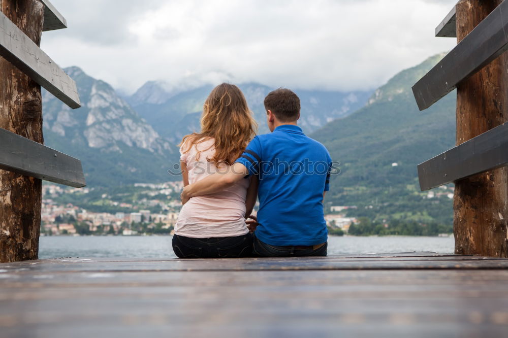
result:
[[(396, 74), (374, 92), (295, 90), (301, 98), (300, 125), (340, 161), (326, 204), (356, 206), (352, 216), (451, 224), (452, 201), (419, 191), (417, 164), (455, 145), (454, 94), (420, 112), (411, 86), (444, 54)], [(70, 110), (43, 93), (45, 142), (82, 160), (89, 187), (179, 180), (168, 170), (178, 163), (176, 146), (199, 130), (201, 109), (212, 86), (176, 90), (150, 81), (120, 96), (78, 67), (82, 108)], [(267, 132), (263, 99), (273, 88), (240, 84), (249, 107)]]

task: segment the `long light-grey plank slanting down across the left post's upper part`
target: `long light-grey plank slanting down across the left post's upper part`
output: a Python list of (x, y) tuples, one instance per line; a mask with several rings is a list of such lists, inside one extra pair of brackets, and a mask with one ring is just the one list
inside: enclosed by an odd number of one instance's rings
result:
[(74, 80), (1, 12), (0, 56), (69, 107), (81, 107)]

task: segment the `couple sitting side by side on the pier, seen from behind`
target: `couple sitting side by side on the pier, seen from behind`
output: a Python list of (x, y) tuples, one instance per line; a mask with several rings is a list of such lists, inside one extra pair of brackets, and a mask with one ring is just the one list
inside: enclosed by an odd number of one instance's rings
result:
[(294, 92), (274, 90), (264, 104), (271, 133), (255, 136), (241, 90), (218, 85), (201, 132), (183, 138), (183, 207), (173, 236), (179, 258), (326, 256), (330, 155), (297, 126)]

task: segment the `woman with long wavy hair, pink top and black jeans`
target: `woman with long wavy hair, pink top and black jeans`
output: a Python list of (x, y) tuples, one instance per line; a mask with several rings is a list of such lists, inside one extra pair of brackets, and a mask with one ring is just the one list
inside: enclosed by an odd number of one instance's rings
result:
[[(256, 134), (257, 124), (241, 90), (216, 86), (203, 106), (201, 132), (180, 143), (180, 164), (186, 186), (215, 172), (226, 172)], [(182, 207), (173, 236), (179, 258), (246, 257), (252, 235), (245, 220), (258, 195), (257, 178), (245, 178), (230, 188), (191, 198)]]

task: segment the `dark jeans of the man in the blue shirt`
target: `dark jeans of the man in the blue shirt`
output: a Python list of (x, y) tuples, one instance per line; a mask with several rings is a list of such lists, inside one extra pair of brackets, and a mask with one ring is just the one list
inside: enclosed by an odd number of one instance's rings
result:
[(279, 247), (261, 242), (256, 235), (252, 254), (261, 257), (304, 257), (304, 256), (326, 256), (328, 242), (321, 247), (314, 249), (313, 246), (288, 246)]

